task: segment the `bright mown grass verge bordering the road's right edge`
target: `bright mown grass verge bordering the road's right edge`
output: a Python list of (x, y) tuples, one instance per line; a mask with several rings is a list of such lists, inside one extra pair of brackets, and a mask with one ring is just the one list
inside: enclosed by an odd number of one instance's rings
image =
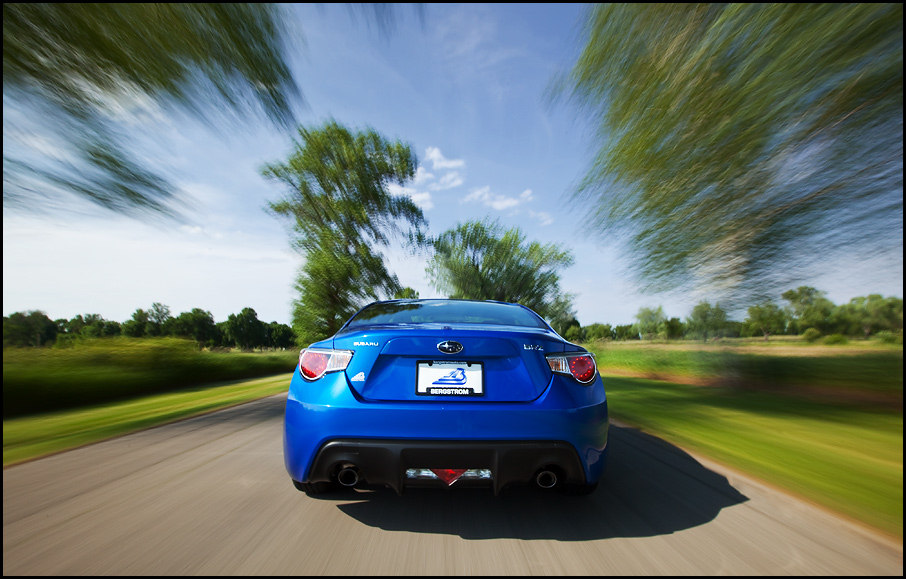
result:
[(642, 378), (605, 385), (615, 419), (902, 539), (902, 411)]

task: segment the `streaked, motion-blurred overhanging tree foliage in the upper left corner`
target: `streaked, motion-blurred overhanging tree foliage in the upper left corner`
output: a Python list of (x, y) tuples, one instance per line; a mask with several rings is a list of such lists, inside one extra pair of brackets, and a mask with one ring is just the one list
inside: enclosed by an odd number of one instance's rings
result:
[[(399, 9), (349, 7), (383, 33)], [(250, 112), (292, 126), (303, 103), (292, 17), (270, 3), (4, 4), (4, 205), (35, 209), (36, 195), (68, 191), (122, 213), (178, 214), (175, 186), (128, 146), (130, 124), (180, 111), (210, 126)]]

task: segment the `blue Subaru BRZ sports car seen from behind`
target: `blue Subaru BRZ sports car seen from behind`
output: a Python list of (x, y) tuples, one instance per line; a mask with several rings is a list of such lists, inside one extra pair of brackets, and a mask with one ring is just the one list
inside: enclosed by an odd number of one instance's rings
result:
[(283, 449), (296, 488), (597, 487), (607, 399), (594, 355), (519, 304), (375, 302), (299, 355)]

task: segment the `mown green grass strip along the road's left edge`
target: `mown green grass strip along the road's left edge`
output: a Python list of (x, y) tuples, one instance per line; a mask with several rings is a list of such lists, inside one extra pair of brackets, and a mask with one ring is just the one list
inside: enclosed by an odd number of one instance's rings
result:
[(285, 392), (290, 378), (284, 373), (4, 420), (3, 466)]

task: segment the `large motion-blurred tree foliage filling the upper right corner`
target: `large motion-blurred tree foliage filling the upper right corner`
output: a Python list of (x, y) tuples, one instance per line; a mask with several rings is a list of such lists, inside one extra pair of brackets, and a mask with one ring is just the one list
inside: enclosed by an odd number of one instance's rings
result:
[(902, 4), (601, 4), (585, 33), (576, 198), (648, 289), (741, 304), (833, 249), (902, 260)]

